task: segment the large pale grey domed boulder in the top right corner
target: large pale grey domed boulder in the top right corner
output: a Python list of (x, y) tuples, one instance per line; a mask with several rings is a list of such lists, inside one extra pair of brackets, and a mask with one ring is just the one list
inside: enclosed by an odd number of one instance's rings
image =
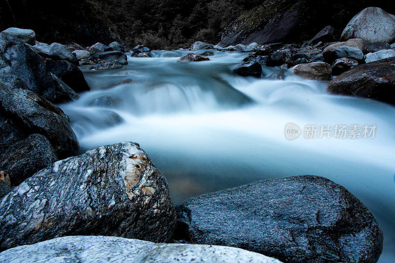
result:
[(379, 7), (367, 7), (347, 24), (342, 40), (361, 38), (366, 42), (395, 40), (395, 18)]

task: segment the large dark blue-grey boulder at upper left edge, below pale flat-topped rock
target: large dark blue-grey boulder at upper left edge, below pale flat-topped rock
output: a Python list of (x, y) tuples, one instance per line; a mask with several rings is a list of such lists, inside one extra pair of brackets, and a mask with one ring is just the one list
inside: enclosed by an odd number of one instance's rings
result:
[(59, 83), (46, 69), (46, 60), (27, 44), (0, 33), (0, 79), (9, 88), (32, 90), (54, 102)]

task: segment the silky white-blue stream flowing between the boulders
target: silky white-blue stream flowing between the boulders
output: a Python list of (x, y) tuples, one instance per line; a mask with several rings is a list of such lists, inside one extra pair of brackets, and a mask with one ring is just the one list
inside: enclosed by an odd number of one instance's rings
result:
[[(60, 105), (81, 152), (138, 142), (166, 176), (175, 204), (262, 179), (324, 176), (373, 212), (384, 231), (380, 262), (395, 262), (395, 107), (329, 95), (325, 82), (278, 68), (264, 68), (260, 79), (232, 74), (247, 53), (214, 51), (207, 62), (176, 63), (186, 53), (128, 56), (129, 65), (111, 71), (81, 67), (91, 91)], [(285, 137), (287, 123), (300, 127), (299, 138)], [(320, 125), (354, 124), (362, 131), (376, 125), (374, 138), (339, 139), (334, 130), (318, 138)], [(304, 138), (306, 125), (318, 125), (316, 139)]]

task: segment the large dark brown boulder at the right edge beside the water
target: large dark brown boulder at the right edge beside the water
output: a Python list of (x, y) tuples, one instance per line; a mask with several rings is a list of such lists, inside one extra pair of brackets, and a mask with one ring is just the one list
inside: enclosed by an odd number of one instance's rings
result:
[(395, 58), (356, 66), (332, 79), (327, 91), (395, 105)]

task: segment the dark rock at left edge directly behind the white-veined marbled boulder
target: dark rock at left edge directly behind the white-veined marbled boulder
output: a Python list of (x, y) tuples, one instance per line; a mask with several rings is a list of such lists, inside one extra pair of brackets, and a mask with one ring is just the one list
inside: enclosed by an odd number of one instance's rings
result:
[(32, 134), (0, 155), (0, 170), (9, 175), (12, 186), (18, 186), (57, 160), (49, 141), (40, 134)]

